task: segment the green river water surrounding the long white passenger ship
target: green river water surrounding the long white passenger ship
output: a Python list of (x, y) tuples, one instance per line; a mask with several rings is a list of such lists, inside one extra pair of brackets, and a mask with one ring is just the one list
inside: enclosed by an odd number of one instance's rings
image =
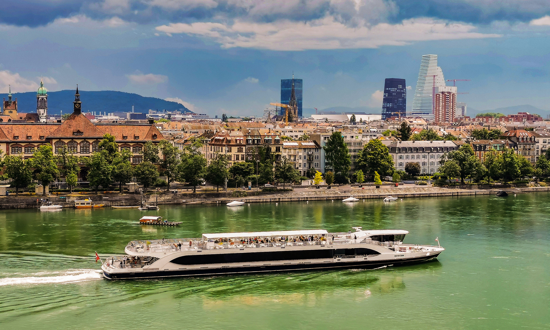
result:
[[(0, 329), (549, 329), (550, 195), (0, 212)], [(109, 281), (94, 251), (208, 232), (408, 230), (437, 261), (361, 271)]]

